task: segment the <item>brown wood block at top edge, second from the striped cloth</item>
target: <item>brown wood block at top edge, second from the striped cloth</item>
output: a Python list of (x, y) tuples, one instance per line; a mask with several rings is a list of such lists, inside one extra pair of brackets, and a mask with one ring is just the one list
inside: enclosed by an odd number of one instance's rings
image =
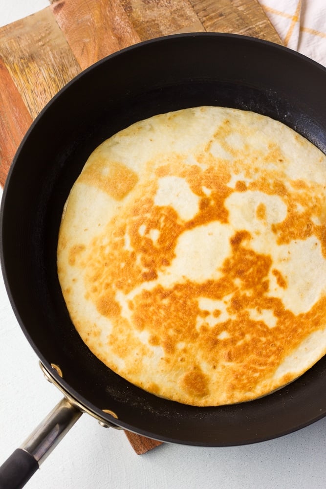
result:
[(142, 41), (176, 32), (205, 30), (188, 0), (120, 0), (120, 3)]

